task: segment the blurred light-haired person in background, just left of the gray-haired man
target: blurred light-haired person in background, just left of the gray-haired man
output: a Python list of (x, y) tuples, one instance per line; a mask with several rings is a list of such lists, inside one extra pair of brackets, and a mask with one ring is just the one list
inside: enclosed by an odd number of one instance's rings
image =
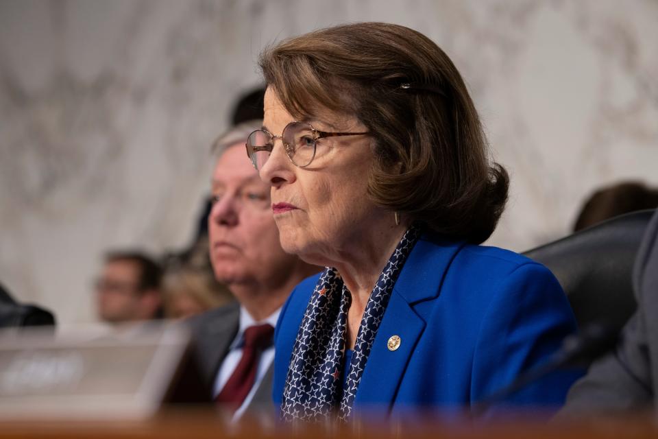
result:
[(164, 316), (188, 318), (227, 305), (234, 297), (212, 272), (191, 265), (168, 267), (162, 280)]

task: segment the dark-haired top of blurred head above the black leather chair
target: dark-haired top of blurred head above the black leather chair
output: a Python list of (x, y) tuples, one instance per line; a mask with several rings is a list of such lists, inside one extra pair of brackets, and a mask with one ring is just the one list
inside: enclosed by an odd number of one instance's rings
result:
[(658, 207), (658, 189), (641, 182), (620, 182), (602, 187), (587, 198), (578, 213), (574, 232), (606, 219)]

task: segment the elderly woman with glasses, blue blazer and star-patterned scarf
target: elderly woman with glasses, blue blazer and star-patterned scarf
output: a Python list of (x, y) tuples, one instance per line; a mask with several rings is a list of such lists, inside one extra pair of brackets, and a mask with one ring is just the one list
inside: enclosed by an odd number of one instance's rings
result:
[[(264, 126), (247, 153), (284, 250), (327, 267), (280, 314), (284, 420), (470, 407), (576, 329), (544, 266), (478, 246), (509, 179), (487, 163), (472, 99), (437, 45), (358, 23), (287, 40), (260, 66)], [(555, 373), (502, 402), (559, 405), (574, 379)]]

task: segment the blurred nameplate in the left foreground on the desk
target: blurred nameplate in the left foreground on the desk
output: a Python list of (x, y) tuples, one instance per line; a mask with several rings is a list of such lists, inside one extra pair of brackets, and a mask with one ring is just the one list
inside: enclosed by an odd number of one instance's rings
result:
[(0, 333), (0, 419), (138, 419), (206, 401), (180, 325)]

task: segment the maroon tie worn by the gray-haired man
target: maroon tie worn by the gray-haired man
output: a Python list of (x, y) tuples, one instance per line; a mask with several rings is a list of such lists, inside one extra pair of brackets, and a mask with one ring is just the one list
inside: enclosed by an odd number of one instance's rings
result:
[(267, 323), (245, 329), (242, 358), (215, 397), (216, 403), (232, 411), (238, 410), (254, 386), (260, 354), (272, 345), (273, 334), (274, 328)]

